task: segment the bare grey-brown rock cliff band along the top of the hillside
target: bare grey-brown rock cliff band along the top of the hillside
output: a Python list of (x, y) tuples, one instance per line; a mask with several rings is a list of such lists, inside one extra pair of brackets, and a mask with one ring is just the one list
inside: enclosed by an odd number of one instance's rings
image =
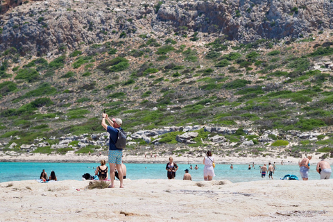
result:
[(250, 42), (260, 38), (307, 36), (333, 28), (333, 3), (327, 0), (24, 2), (2, 15), (0, 51), (15, 47), (22, 55), (60, 53), (63, 46), (135, 36), (151, 31), (189, 31), (228, 35)]

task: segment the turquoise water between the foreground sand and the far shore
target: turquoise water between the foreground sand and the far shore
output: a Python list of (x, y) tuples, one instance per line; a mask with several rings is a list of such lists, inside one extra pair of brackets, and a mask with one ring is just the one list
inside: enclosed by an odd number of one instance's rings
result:
[[(167, 163), (166, 163), (167, 164)], [(130, 180), (139, 179), (167, 179), (166, 164), (126, 164), (127, 178)], [(92, 163), (36, 163), (36, 162), (0, 162), (0, 182), (14, 180), (35, 180), (40, 178), (42, 169), (45, 169), (48, 176), (51, 171), (55, 171), (58, 180), (81, 180), (84, 173), (94, 175), (94, 168), (99, 164)], [(230, 180), (231, 182), (246, 182), (262, 179), (258, 165), (255, 169), (248, 170), (248, 164), (233, 164), (234, 169), (230, 169), (230, 164), (216, 164), (213, 180)], [(178, 164), (176, 180), (182, 180), (184, 170), (189, 169), (189, 164)], [(192, 164), (195, 167), (195, 164)], [(189, 169), (192, 180), (203, 180), (203, 164), (198, 164), (199, 169)], [(251, 165), (252, 167), (252, 165)], [(275, 180), (280, 180), (286, 174), (294, 174), (300, 178), (298, 165), (277, 165), (273, 174)], [(301, 179), (301, 178), (300, 178)], [(319, 180), (319, 174), (316, 172), (316, 165), (311, 165), (309, 180)]]

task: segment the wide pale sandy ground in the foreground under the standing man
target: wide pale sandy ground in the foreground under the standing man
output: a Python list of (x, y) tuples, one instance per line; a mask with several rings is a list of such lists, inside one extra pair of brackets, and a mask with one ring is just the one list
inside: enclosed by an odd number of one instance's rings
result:
[(332, 180), (0, 183), (0, 221), (332, 221)]

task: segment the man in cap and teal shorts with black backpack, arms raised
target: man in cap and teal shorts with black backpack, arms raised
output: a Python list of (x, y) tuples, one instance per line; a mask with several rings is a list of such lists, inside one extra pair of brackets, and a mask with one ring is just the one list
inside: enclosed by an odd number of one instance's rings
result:
[[(105, 119), (110, 123), (108, 126), (105, 123)], [(114, 187), (114, 169), (117, 168), (119, 180), (120, 180), (120, 188), (123, 188), (123, 170), (121, 169), (121, 157), (123, 155), (123, 148), (126, 146), (126, 133), (123, 132), (123, 129), (120, 127), (123, 121), (121, 119), (110, 119), (108, 114), (103, 113), (102, 118), (102, 126), (105, 130), (108, 130), (110, 134), (109, 141), (109, 165), (110, 165), (110, 180), (111, 185), (109, 188)]]

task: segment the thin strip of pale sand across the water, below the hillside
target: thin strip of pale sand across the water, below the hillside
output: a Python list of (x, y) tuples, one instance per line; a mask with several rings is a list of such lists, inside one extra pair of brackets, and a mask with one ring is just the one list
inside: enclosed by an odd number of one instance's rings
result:
[[(317, 163), (321, 160), (321, 155), (313, 154), (311, 164)], [(216, 164), (268, 164), (268, 162), (276, 162), (276, 164), (298, 164), (300, 158), (295, 158), (287, 156), (287, 158), (273, 158), (273, 157), (239, 157), (238, 155), (230, 155), (225, 157), (220, 157), (213, 155)], [(303, 156), (305, 157), (305, 156)], [(0, 153), (0, 162), (100, 162), (100, 160), (108, 160), (108, 155), (87, 155), (87, 154), (74, 154), (67, 153), (66, 155), (60, 154), (40, 154), (40, 153), (31, 153), (31, 154), (19, 154), (19, 155), (4, 155)], [(202, 164), (203, 157), (196, 157), (194, 155), (183, 155), (183, 156), (173, 156), (173, 161), (178, 164)], [(326, 159), (330, 164), (333, 163), (333, 158)], [(150, 157), (147, 155), (128, 155), (126, 152), (123, 155), (124, 163), (166, 163), (169, 162), (169, 155)]]

